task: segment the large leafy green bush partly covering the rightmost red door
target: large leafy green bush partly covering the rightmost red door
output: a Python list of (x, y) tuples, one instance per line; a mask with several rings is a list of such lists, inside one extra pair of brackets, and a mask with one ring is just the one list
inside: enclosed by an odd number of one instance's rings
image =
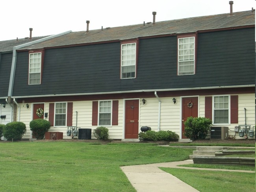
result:
[(184, 122), (184, 135), (191, 140), (205, 139), (212, 126), (212, 121), (205, 117), (188, 117)]

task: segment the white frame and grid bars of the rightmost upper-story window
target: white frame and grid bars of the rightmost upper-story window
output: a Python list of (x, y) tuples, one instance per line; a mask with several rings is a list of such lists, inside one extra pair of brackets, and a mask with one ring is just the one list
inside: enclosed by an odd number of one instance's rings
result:
[[(189, 38), (193, 38), (193, 48), (188, 48), (185, 49), (184, 48), (184, 44), (190, 44), (192, 42), (189, 43), (185, 43), (185, 39), (189, 39)], [(183, 39), (184, 42), (180, 43), (180, 40)], [(195, 44), (196, 44), (196, 38), (195, 36), (190, 36), (190, 37), (180, 37), (178, 38), (178, 75), (194, 75), (195, 74), (195, 54), (196, 54), (196, 50), (195, 50)], [(188, 54), (185, 54), (185, 51), (188, 51)], [(190, 53), (190, 51), (193, 50), (193, 54)], [(181, 54), (181, 52), (183, 52), (183, 54)], [(193, 55), (193, 58), (191, 58), (191, 55)], [(185, 56), (187, 56), (188, 58), (185, 58)], [(183, 57), (183, 59), (182, 59)], [(193, 73), (191, 73), (190, 71), (187, 72), (180, 72), (180, 66), (188, 66), (188, 65), (181, 65), (182, 63), (186, 63), (186, 62), (193, 62)]]

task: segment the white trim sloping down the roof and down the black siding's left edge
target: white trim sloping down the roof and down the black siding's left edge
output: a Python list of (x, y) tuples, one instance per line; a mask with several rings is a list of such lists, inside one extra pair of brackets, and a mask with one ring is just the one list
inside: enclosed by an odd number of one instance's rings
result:
[(24, 44), (17, 45), (15, 47), (13, 47), (13, 59), (12, 59), (12, 62), (11, 62), (11, 74), (10, 74), (10, 81), (9, 81), (8, 96), (12, 96), (12, 94), (13, 94), (13, 83), (14, 83), (14, 76), (15, 76), (15, 69), (16, 69), (16, 62), (17, 62), (17, 56), (16, 56), (17, 52), (16, 52), (16, 50), (18, 50), (22, 47), (25, 47), (25, 46), (29, 46), (29, 45), (32, 45), (32, 44), (35, 44), (35, 43), (46, 41), (48, 39), (59, 37), (61, 35), (65, 35), (65, 34), (70, 33), (70, 32), (72, 32), (72, 31), (66, 31), (66, 32), (59, 33), (59, 34), (56, 34), (56, 35), (50, 35), (50, 36), (42, 38), (42, 39), (38, 39), (38, 40), (35, 40), (35, 41), (32, 41), (32, 42), (27, 42), (27, 43), (24, 43)]

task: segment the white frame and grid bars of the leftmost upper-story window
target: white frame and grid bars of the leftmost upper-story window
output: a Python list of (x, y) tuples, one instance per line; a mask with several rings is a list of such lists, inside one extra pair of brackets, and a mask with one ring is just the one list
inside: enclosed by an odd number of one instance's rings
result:
[[(35, 58), (31, 58), (32, 55), (40, 55), (36, 57), (37, 61), (35, 62)], [(39, 58), (39, 59), (38, 59)], [(36, 66), (35, 66), (36, 65)], [(29, 54), (29, 72), (28, 72), (28, 85), (40, 85), (41, 84), (41, 68), (42, 68), (42, 52), (30, 53)], [(32, 76), (39, 74), (39, 82), (31, 83)], [(38, 78), (35, 78), (38, 80)], [(34, 80), (35, 81), (35, 80)]]

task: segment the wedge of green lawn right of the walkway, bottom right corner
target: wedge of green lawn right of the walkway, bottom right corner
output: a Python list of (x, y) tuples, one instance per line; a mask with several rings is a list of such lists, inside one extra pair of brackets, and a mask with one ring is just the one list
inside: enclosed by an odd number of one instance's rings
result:
[(200, 192), (254, 192), (255, 174), (161, 168)]

